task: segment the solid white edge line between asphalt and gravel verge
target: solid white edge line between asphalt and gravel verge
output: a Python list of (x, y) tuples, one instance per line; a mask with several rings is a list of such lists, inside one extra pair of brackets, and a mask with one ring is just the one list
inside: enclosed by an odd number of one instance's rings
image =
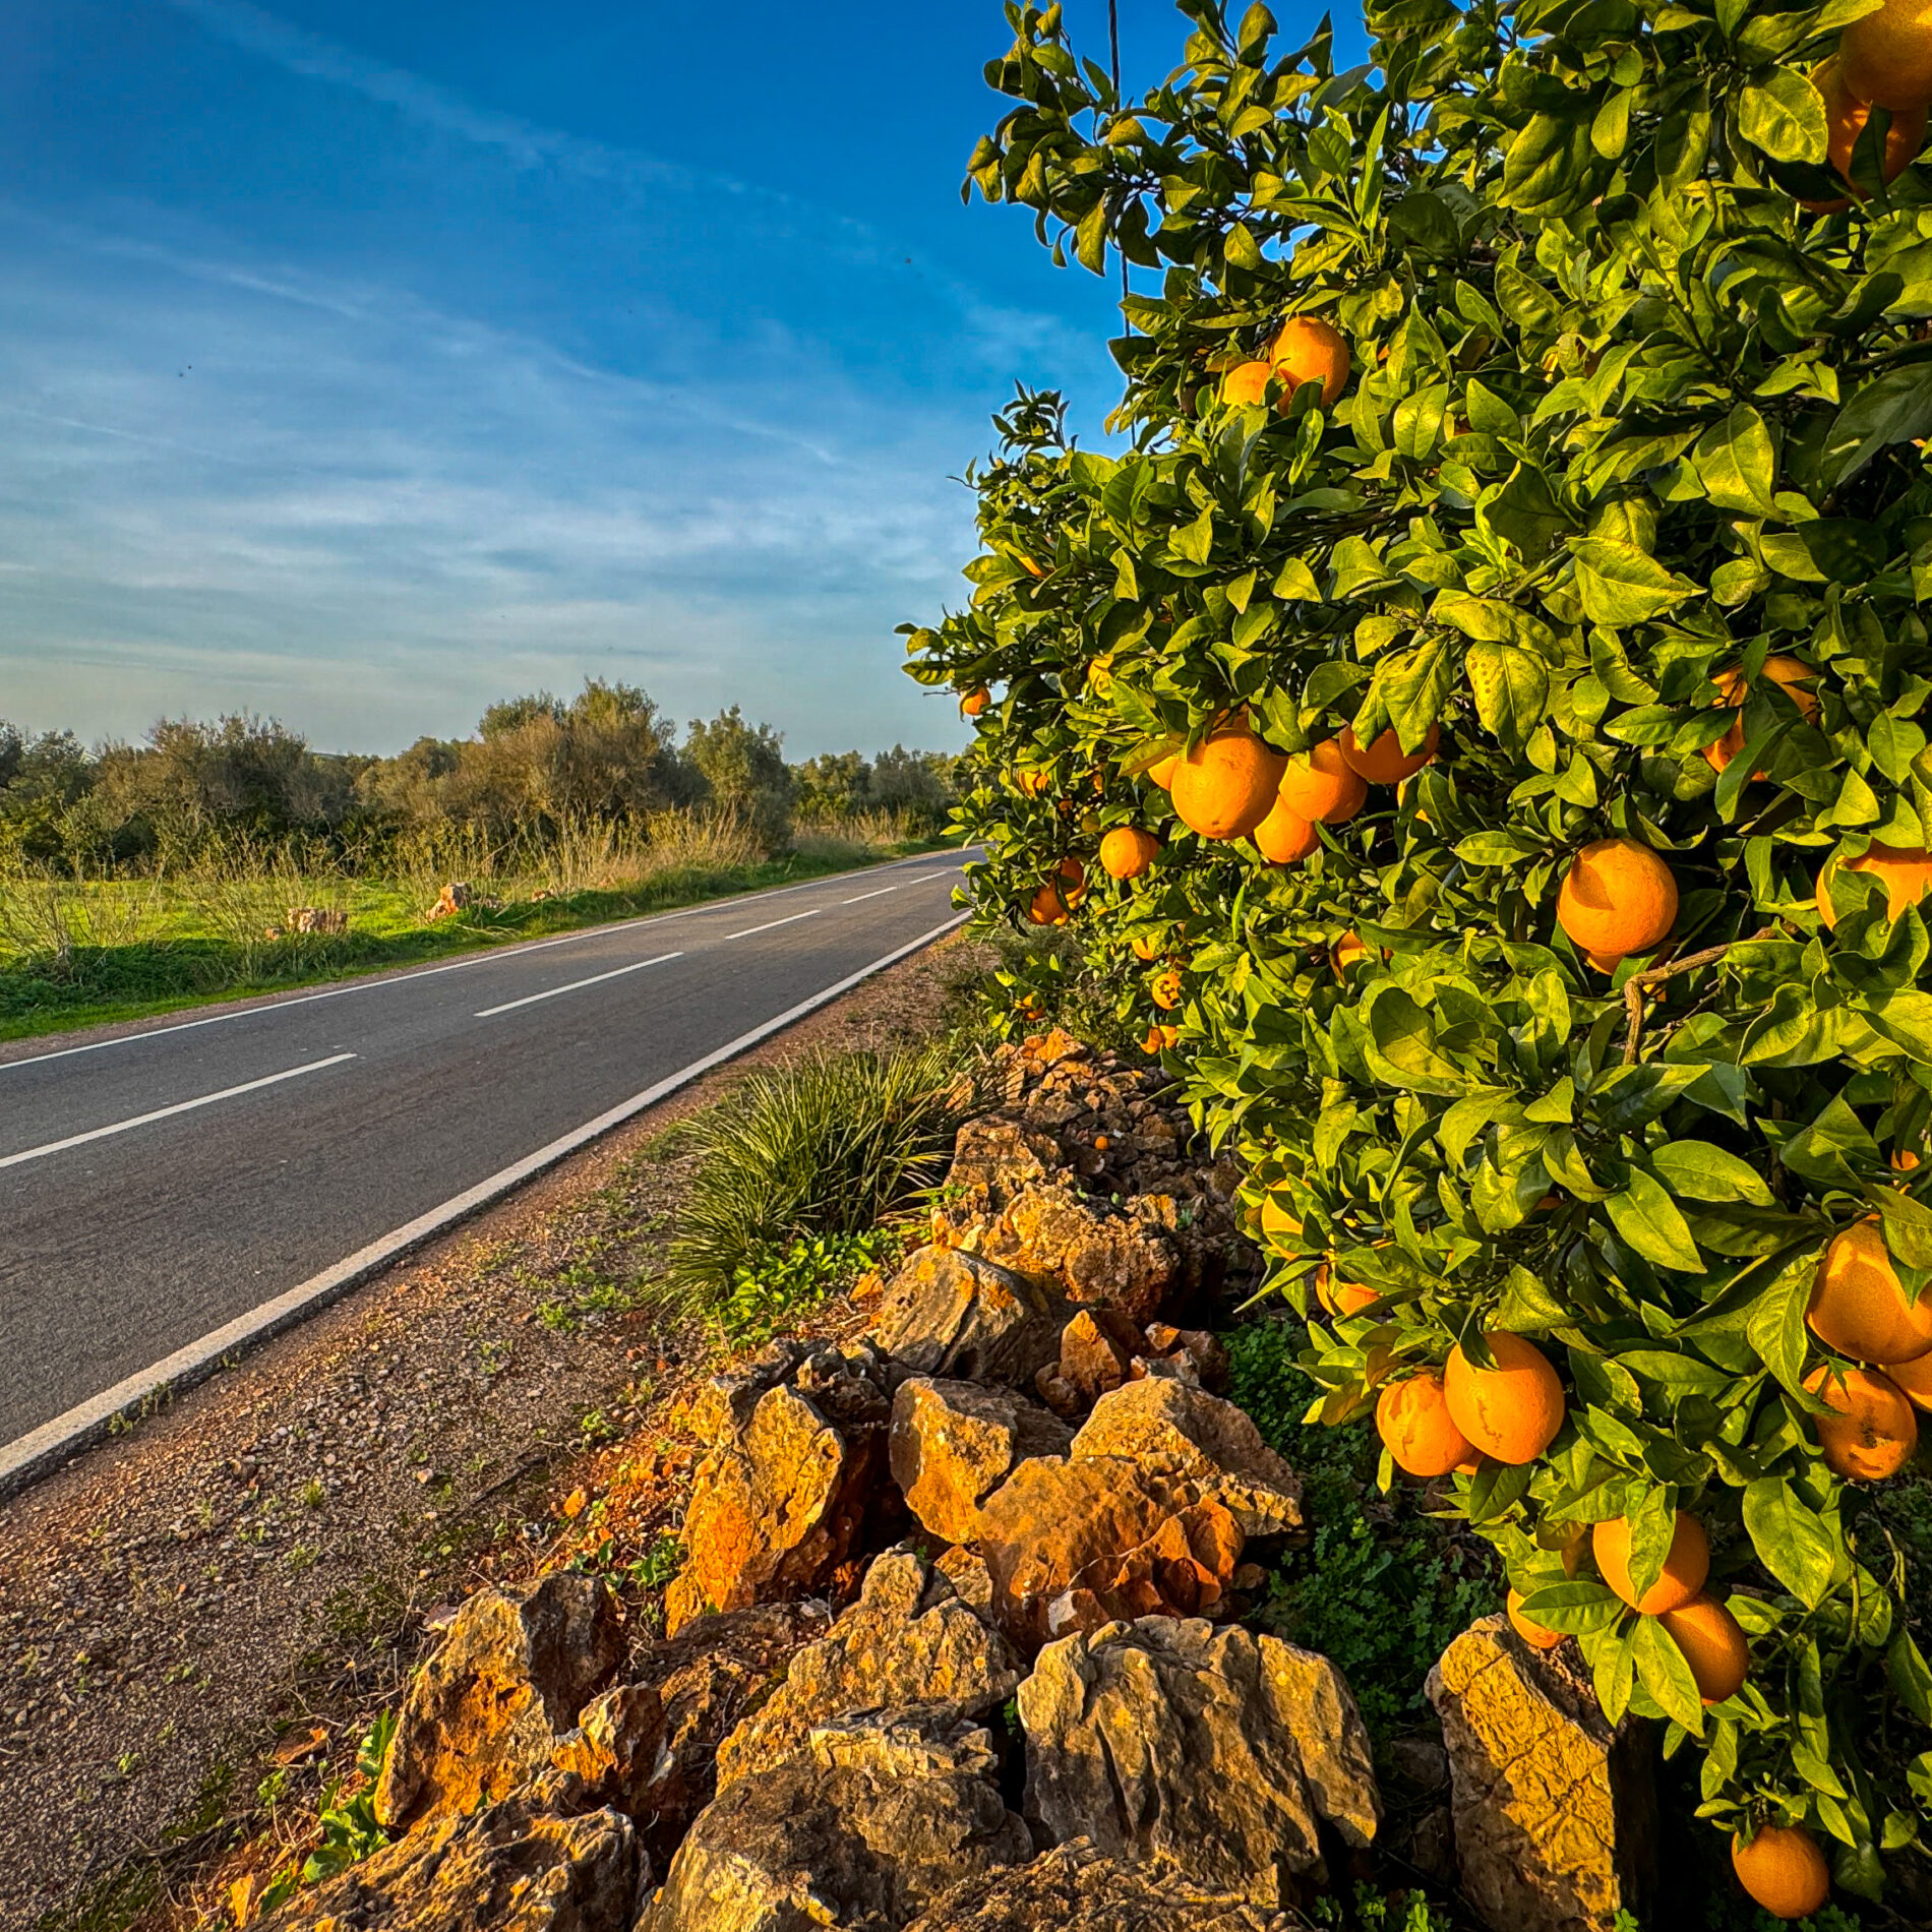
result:
[(858, 972), (846, 974), (844, 980), (825, 987), (823, 993), (813, 993), (796, 1007), (786, 1007), (777, 1018), (753, 1026), (748, 1034), (740, 1034), (730, 1043), (719, 1047), (717, 1053), (707, 1053), (701, 1061), (692, 1061), (690, 1066), (682, 1066), (655, 1086), (647, 1086), (641, 1094), (620, 1101), (609, 1113), (597, 1115), (595, 1121), (585, 1121), (583, 1126), (572, 1128), (572, 1132), (553, 1140), (547, 1148), (539, 1148), (522, 1161), (491, 1175), (489, 1180), (479, 1180), (473, 1188), (466, 1188), (440, 1208), (431, 1208), (392, 1233), (381, 1235), (369, 1246), (357, 1248), (348, 1260), (336, 1262), (334, 1267), (325, 1267), (319, 1275), (311, 1275), (307, 1281), (276, 1294), (274, 1300), (263, 1302), (243, 1316), (236, 1316), (234, 1321), (224, 1321), (218, 1329), (203, 1335), (199, 1341), (191, 1341), (185, 1349), (176, 1349), (174, 1354), (153, 1368), (116, 1381), (112, 1389), (102, 1389), (100, 1395), (93, 1395), (85, 1403), (75, 1403), (66, 1414), (54, 1416), (52, 1422), (43, 1422), (37, 1430), (6, 1443), (0, 1447), (0, 1497), (15, 1493), (37, 1476), (44, 1476), (70, 1457), (79, 1455), (89, 1443), (108, 1434), (108, 1426), (116, 1416), (126, 1414), (147, 1397), (187, 1387), (218, 1370), (236, 1350), (269, 1341), (269, 1337), (280, 1335), (282, 1329), (294, 1327), (319, 1308), (379, 1275), (390, 1262), (400, 1260), (412, 1248), (419, 1248), (425, 1240), (446, 1233), (456, 1223), (512, 1192), (512, 1188), (522, 1186), (533, 1175), (554, 1167), (647, 1107), (655, 1107), (661, 1099), (676, 1094), (678, 1088), (690, 1086), (701, 1074), (711, 1072), (713, 1066), (723, 1066), (724, 1061), (736, 1059), (761, 1039), (782, 1032), (794, 1020), (806, 1018), (808, 1012), (817, 1012), (819, 1007), (829, 1005), (840, 993), (850, 993), (860, 981), (869, 980), (875, 972), (885, 972), (887, 966), (896, 966), (908, 954), (918, 952), (920, 947), (929, 947), (935, 939), (943, 939), (952, 927), (964, 922), (964, 912), (954, 914), (943, 925), (935, 925), (929, 933), (920, 933), (918, 939), (906, 941), (906, 945), (896, 947), (883, 958), (875, 958), (869, 966), (860, 966)]

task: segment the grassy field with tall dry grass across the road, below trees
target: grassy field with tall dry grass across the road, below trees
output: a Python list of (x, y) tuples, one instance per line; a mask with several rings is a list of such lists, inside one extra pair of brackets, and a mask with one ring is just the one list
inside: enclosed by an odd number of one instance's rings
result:
[[(245, 844), (149, 877), (14, 867), (0, 875), (0, 1039), (412, 966), (929, 846), (904, 819), (869, 813), (802, 827), (765, 858), (738, 819), (663, 813), (645, 827), (566, 829), (535, 850), (423, 842), (383, 873)], [(471, 902), (429, 918), (454, 881), (471, 887)], [(348, 925), (292, 931), (298, 908), (340, 912)]]

